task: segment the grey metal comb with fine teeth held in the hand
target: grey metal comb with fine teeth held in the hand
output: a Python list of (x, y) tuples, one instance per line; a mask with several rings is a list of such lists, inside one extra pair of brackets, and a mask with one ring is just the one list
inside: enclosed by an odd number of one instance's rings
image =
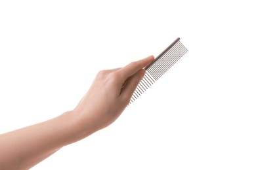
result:
[(135, 92), (133, 93), (130, 104), (144, 93), (154, 82), (156, 82), (164, 73), (166, 73), (179, 59), (188, 52), (186, 47), (177, 38), (161, 54), (144, 69), (146, 73), (140, 80)]

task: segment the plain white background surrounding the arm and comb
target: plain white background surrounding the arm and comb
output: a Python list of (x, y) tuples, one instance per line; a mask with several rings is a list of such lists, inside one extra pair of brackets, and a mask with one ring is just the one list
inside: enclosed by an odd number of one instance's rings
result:
[(256, 169), (253, 4), (0, 1), (0, 133), (73, 109), (98, 71), (181, 37), (188, 54), (114, 124), (32, 169)]

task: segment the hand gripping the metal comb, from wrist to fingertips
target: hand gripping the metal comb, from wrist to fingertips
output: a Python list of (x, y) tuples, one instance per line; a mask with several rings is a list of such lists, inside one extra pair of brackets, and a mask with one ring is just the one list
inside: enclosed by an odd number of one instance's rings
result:
[(129, 63), (123, 68), (100, 71), (83, 99), (73, 110), (79, 126), (93, 132), (114, 122), (129, 104), (143, 78), (143, 69), (154, 56)]

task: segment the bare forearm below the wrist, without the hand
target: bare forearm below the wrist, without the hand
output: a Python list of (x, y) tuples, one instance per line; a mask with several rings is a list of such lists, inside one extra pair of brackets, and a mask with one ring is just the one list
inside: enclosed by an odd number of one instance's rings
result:
[(29, 169), (56, 150), (94, 131), (77, 124), (74, 112), (0, 135), (0, 169)]

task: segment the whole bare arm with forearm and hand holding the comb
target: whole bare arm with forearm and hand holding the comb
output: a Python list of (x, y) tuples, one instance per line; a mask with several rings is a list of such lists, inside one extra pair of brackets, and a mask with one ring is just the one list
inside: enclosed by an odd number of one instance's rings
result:
[(0, 135), (0, 169), (30, 169), (54, 152), (109, 126), (129, 104), (154, 56), (100, 71), (75, 109)]

